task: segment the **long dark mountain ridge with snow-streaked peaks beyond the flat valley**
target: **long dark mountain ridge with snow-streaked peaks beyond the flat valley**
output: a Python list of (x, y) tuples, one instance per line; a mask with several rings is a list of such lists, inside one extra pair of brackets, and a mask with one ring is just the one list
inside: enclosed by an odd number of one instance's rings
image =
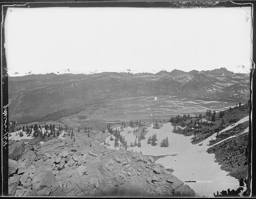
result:
[(19, 123), (58, 119), (86, 106), (123, 97), (180, 95), (246, 103), (249, 74), (225, 68), (184, 72), (60, 74), (8, 77), (9, 119)]

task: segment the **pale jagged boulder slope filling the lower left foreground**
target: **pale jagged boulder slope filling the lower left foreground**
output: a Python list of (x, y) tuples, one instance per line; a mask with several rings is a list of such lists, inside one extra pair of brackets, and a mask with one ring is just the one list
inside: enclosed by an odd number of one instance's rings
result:
[(60, 139), (9, 147), (10, 196), (197, 196), (152, 157), (97, 140), (75, 149)]

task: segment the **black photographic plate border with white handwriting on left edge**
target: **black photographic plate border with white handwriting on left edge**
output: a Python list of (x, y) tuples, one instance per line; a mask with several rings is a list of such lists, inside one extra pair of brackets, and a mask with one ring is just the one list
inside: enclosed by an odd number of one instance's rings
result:
[[(41, 2), (39, 2), (41, 1)], [(51, 2), (50, 2), (51, 1)], [(60, 1), (60, 2), (53, 2), (53, 1)], [(218, 3), (217, 3), (218, 2)], [(2, 160), (2, 170), (1, 170), (1, 177), (2, 177), (2, 196), (8, 196), (8, 72), (7, 72), (7, 63), (5, 57), (5, 48), (4, 48), (4, 25), (2, 24), (5, 20), (5, 15), (7, 8), (9, 6), (14, 7), (175, 7), (175, 8), (192, 8), (192, 7), (244, 7), (244, 6), (252, 6), (252, 18), (256, 17), (256, 1), (253, 0), (240, 0), (240, 1), (202, 1), (202, 0), (190, 0), (190, 1), (123, 1), (123, 0), (95, 0), (95, 1), (87, 1), (87, 0), (7, 0), (5, 2), (0, 2), (2, 16), (1, 17), (1, 63), (2, 63), (2, 153), (1, 153), (1, 160)], [(8, 6), (7, 6), (8, 5)], [(23, 6), (18, 6), (23, 5)], [(253, 20), (252, 20), (253, 21)], [(256, 41), (256, 26), (253, 27), (253, 40)], [(253, 62), (255, 63), (256, 60), (256, 42), (253, 42)], [(253, 63), (253, 64), (254, 64)], [(255, 67), (255, 66), (254, 66)], [(252, 79), (255, 78), (255, 73), (251, 70), (250, 73), (250, 114), (249, 114), (249, 150), (248, 150), (248, 179), (251, 182), (251, 187), (253, 187), (253, 183), (251, 181), (252, 176), (255, 175), (253, 172), (251, 165), (255, 163), (255, 148), (252, 146), (256, 145), (256, 138), (255, 135), (252, 133), (252, 125), (255, 127), (255, 122), (252, 122), (251, 113), (255, 115), (255, 109), (252, 110), (252, 103), (255, 99), (255, 93), (252, 93)], [(6, 112), (6, 114), (5, 114)], [(5, 126), (5, 123), (7, 124)], [(7, 132), (7, 135), (6, 135)], [(254, 138), (254, 139), (253, 139)], [(7, 144), (6, 144), (7, 143)], [(250, 145), (252, 143), (252, 145)], [(3, 156), (3, 157), (2, 157)], [(251, 171), (251, 173), (249, 172)], [(250, 187), (248, 187), (250, 190)], [(251, 195), (256, 196), (256, 190), (251, 188)]]

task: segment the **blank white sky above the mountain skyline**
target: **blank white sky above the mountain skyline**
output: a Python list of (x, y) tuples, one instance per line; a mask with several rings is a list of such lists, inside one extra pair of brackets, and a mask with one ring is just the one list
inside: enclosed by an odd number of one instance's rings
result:
[(9, 76), (225, 67), (248, 73), (251, 8), (8, 8)]

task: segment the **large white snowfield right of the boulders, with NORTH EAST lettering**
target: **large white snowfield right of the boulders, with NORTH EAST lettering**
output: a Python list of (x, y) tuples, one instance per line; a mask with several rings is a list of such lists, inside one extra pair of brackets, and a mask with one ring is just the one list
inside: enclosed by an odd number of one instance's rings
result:
[[(235, 125), (248, 120), (248, 116), (241, 119)], [(234, 127), (233, 125), (232, 127)], [(228, 126), (221, 132), (232, 128)], [(135, 141), (135, 136), (133, 135), (134, 128), (127, 127), (121, 133), (125, 136), (128, 146), (130, 142)], [(220, 165), (215, 163), (215, 155), (207, 153), (209, 146), (207, 145), (211, 139), (214, 139), (216, 135), (213, 135), (199, 144), (193, 145), (191, 139), (193, 136), (184, 136), (181, 134), (172, 133), (173, 126), (171, 123), (165, 123), (160, 129), (153, 129), (152, 126), (148, 127), (149, 130), (145, 136), (145, 140), (141, 140), (141, 147), (128, 147), (128, 150), (133, 150), (137, 152), (142, 152), (144, 155), (174, 155), (166, 156), (164, 158), (158, 159), (156, 162), (163, 164), (166, 168), (174, 169), (173, 174), (176, 175), (182, 181), (197, 181), (197, 180), (210, 180), (212, 183), (187, 183), (192, 189), (194, 189), (201, 197), (213, 197), (213, 192), (227, 190), (228, 188), (237, 189), (239, 187), (239, 182), (234, 177), (228, 176), (228, 172), (221, 170)], [(245, 133), (246, 130), (242, 133)], [(147, 144), (149, 136), (152, 134), (157, 134), (156, 146), (151, 146)], [(240, 135), (242, 134), (240, 133)], [(168, 136), (169, 146), (160, 147), (160, 142), (163, 138)], [(236, 135), (238, 136), (238, 135)], [(113, 138), (115, 138), (113, 136)], [(114, 140), (110, 141), (110, 136), (106, 138), (106, 142), (110, 146), (108, 148), (115, 149)], [(120, 141), (119, 141), (120, 143)], [(102, 143), (103, 144), (103, 143)], [(116, 150), (118, 150), (116, 148)], [(175, 155), (177, 154), (177, 155)], [(204, 169), (207, 168), (207, 169)]]

